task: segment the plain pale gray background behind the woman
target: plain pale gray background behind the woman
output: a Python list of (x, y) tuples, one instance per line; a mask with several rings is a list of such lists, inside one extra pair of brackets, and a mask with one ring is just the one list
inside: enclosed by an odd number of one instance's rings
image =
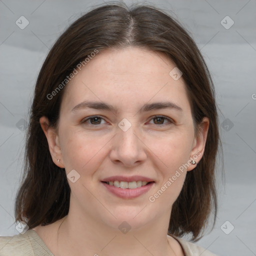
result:
[[(102, 2), (0, 0), (0, 235), (18, 233), (14, 197), (28, 109), (42, 62), (63, 29)], [(218, 255), (256, 255), (256, 1), (145, 3), (167, 9), (190, 31), (213, 76), (221, 110), (225, 179), (220, 166), (217, 222), (196, 243)], [(15, 24), (21, 15), (29, 21), (24, 29)], [(231, 20), (223, 19), (226, 15), (234, 21), (228, 29), (224, 26)]]

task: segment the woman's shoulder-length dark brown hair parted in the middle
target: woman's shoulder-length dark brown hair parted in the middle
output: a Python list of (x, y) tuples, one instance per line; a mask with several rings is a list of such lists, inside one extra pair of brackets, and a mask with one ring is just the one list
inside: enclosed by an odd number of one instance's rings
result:
[(214, 87), (195, 42), (185, 29), (164, 11), (137, 5), (104, 4), (74, 21), (56, 40), (36, 80), (26, 134), (24, 173), (15, 201), (15, 220), (29, 229), (52, 223), (68, 213), (70, 187), (64, 169), (51, 158), (39, 118), (46, 116), (56, 127), (64, 87), (47, 95), (91, 52), (126, 46), (164, 53), (182, 71), (195, 128), (204, 116), (209, 129), (204, 154), (188, 171), (182, 190), (173, 203), (168, 233), (192, 233), (193, 241), (206, 226), (210, 212), (217, 211), (215, 158), (219, 131)]

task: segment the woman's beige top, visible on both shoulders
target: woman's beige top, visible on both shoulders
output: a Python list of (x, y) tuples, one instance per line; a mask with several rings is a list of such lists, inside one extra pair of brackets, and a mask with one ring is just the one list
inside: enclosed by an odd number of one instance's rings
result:
[[(217, 256), (203, 247), (171, 235), (181, 245), (185, 256)], [(13, 236), (0, 236), (0, 256), (54, 256), (33, 230)]]

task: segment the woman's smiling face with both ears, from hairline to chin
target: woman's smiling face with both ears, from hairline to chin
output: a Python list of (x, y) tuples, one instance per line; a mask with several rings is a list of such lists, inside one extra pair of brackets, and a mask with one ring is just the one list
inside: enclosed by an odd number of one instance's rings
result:
[(57, 130), (40, 119), (53, 161), (74, 181), (68, 179), (73, 211), (113, 228), (123, 220), (136, 228), (169, 218), (208, 128), (204, 118), (195, 136), (182, 76), (169, 75), (174, 67), (146, 49), (99, 52), (66, 86)]

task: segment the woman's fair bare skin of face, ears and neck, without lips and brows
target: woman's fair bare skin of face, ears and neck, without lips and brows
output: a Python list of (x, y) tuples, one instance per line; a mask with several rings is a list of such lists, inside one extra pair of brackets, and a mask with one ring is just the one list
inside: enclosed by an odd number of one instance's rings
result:
[[(58, 127), (50, 127), (47, 117), (40, 118), (54, 163), (65, 168), (66, 174), (75, 169), (80, 175), (74, 183), (68, 179), (68, 215), (33, 228), (55, 256), (183, 255), (177, 240), (166, 234), (172, 204), (186, 172), (196, 164), (180, 172), (154, 202), (148, 197), (193, 155), (197, 155), (196, 162), (201, 159), (209, 120), (203, 119), (196, 136), (182, 76), (174, 80), (169, 75), (174, 67), (162, 53), (143, 48), (102, 51), (66, 86)], [(71, 111), (84, 100), (103, 101), (118, 111)], [(139, 112), (143, 104), (158, 101), (174, 102), (182, 111)], [(102, 119), (82, 123), (94, 115)], [(172, 122), (157, 120), (154, 115), (169, 117)], [(127, 131), (118, 127), (123, 118), (131, 123)], [(123, 199), (109, 193), (100, 182), (112, 175), (142, 175), (155, 183), (145, 194)], [(118, 229), (124, 220), (131, 226), (126, 234)]]

